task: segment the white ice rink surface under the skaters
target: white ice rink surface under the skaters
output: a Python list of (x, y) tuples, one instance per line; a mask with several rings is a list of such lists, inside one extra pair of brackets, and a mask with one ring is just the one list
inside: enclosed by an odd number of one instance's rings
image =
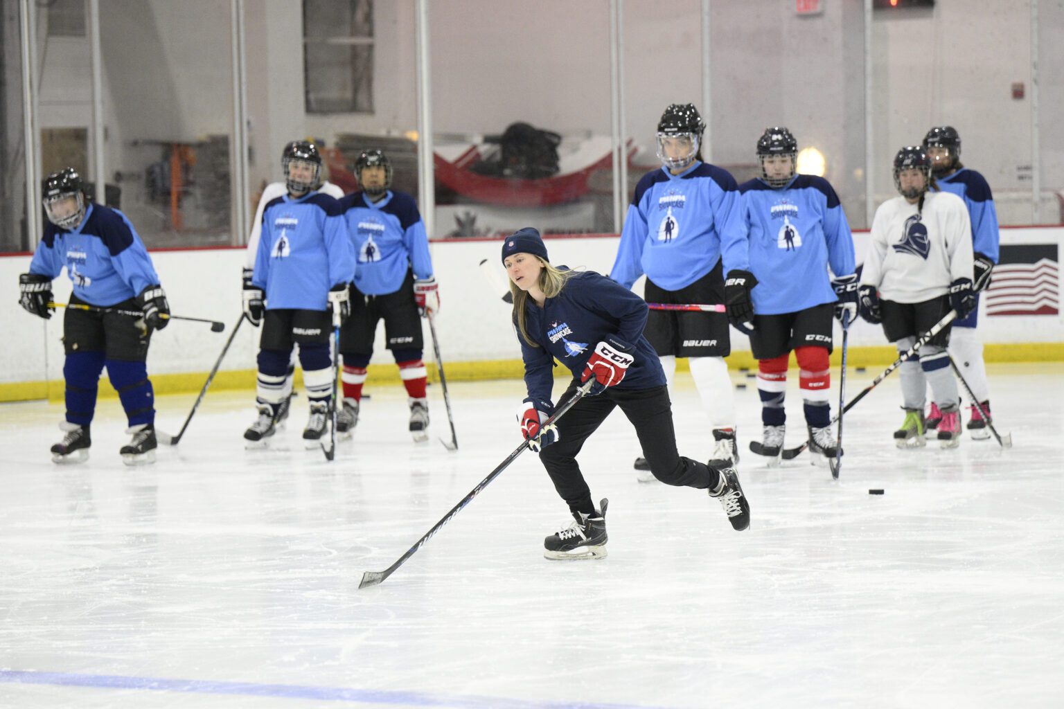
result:
[[(850, 370), (849, 398), (879, 371)], [(609, 558), (543, 558), (569, 519), (525, 454), (361, 591), (517, 446), (521, 383), (452, 384), (449, 453), (438, 386), (418, 445), (402, 388), (370, 379), (332, 463), (303, 450), (302, 394), (248, 452), (253, 394), (211, 392), (144, 468), (121, 465), (117, 400), (68, 467), (48, 453), (62, 405), (0, 405), (0, 707), (1064, 706), (1064, 367), (991, 367), (1008, 451), (896, 450), (892, 375), (847, 415), (838, 482), (808, 454), (759, 466), (757, 385), (733, 379), (749, 530), (637, 483), (615, 412), (581, 455)], [(160, 398), (157, 426), (194, 399)], [(706, 458), (686, 375), (675, 399), (681, 454)]]

